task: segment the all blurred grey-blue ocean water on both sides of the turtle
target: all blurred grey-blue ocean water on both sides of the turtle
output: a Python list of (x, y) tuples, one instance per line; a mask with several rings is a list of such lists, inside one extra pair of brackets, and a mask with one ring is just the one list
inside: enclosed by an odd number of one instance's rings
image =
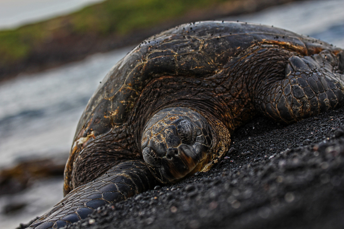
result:
[[(298, 1), (225, 20), (273, 25), (344, 47), (343, 12), (343, 0)], [(99, 81), (130, 50), (95, 54), (0, 84), (0, 167), (23, 157), (66, 154), (77, 121)], [(0, 212), (13, 201), (26, 204), (15, 214), (0, 213), (0, 228), (27, 222), (61, 198), (61, 180), (41, 182), (26, 193), (0, 197)]]

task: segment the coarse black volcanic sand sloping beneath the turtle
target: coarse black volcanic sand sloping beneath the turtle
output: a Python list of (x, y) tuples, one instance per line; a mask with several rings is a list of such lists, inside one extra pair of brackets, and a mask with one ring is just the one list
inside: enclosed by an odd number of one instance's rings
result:
[(344, 109), (257, 117), (210, 171), (98, 209), (68, 229), (344, 228)]

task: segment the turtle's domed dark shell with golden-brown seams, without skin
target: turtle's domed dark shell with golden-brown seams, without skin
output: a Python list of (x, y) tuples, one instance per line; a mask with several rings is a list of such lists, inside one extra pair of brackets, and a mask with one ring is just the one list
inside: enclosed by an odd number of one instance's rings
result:
[(311, 37), (254, 23), (204, 21), (177, 26), (143, 41), (110, 70), (89, 100), (74, 140), (80, 133), (86, 137), (87, 130), (99, 135), (128, 122), (141, 92), (155, 78), (206, 78), (247, 48), (261, 44), (277, 44), (302, 55), (333, 49)]

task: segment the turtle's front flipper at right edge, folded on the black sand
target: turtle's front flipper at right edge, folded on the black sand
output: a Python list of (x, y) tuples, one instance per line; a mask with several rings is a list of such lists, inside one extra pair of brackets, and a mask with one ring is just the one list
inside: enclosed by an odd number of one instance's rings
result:
[(323, 50), (311, 56), (291, 56), (283, 79), (262, 82), (255, 104), (265, 116), (292, 123), (335, 109), (344, 103), (344, 52)]

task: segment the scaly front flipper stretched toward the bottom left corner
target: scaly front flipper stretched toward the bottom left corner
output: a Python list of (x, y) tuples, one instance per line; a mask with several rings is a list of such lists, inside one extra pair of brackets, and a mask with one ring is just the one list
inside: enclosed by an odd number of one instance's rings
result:
[(126, 200), (156, 183), (143, 160), (119, 163), (96, 180), (73, 189), (28, 228), (61, 228), (86, 218), (100, 206)]

